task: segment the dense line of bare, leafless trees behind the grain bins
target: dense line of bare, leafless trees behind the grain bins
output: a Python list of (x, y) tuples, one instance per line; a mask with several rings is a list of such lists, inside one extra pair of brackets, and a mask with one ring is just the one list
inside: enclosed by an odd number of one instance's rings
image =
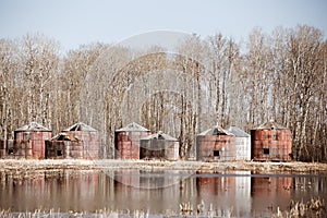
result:
[(246, 131), (275, 119), (293, 132), (296, 160), (327, 160), (327, 43), (311, 26), (253, 29), (245, 41), (190, 36), (160, 47), (81, 46), (64, 56), (43, 35), (0, 39), (0, 138), (37, 121), (58, 133), (82, 121), (112, 154), (114, 130), (135, 121), (178, 137), (180, 154), (218, 123)]

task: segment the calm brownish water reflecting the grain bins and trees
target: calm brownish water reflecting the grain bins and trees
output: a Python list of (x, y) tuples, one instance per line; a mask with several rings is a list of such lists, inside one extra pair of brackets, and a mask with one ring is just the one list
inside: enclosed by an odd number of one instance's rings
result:
[(60, 171), (24, 179), (0, 175), (0, 207), (13, 211), (36, 208), (61, 211), (144, 209), (150, 214), (179, 211), (180, 203), (232, 210), (237, 217), (269, 216), (287, 209), (291, 199), (327, 202), (325, 174), (251, 174), (246, 171)]

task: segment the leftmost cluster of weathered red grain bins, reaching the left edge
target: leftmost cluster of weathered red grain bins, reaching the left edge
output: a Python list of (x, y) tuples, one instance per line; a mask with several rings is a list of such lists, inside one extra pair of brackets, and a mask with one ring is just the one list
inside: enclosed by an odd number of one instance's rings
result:
[(52, 137), (52, 132), (36, 122), (14, 131), (14, 138), (0, 142), (0, 158), (63, 159), (99, 158), (99, 133), (76, 123)]

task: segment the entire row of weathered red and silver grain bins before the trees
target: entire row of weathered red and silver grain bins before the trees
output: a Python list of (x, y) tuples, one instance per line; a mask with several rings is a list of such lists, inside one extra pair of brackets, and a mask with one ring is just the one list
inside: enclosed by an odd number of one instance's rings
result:
[[(114, 132), (117, 159), (179, 159), (179, 142), (162, 132), (130, 123)], [(196, 159), (202, 161), (291, 160), (291, 131), (268, 121), (251, 131), (214, 126), (196, 137)], [(99, 133), (76, 123), (52, 137), (49, 129), (32, 122), (14, 131), (14, 140), (0, 141), (0, 158), (98, 159)]]

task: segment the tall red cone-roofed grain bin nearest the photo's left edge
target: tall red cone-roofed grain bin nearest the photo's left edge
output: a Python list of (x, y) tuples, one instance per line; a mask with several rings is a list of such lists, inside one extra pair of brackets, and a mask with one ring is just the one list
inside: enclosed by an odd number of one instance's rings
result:
[(50, 140), (52, 132), (32, 122), (14, 131), (13, 156), (15, 158), (44, 159), (46, 157), (45, 141)]

